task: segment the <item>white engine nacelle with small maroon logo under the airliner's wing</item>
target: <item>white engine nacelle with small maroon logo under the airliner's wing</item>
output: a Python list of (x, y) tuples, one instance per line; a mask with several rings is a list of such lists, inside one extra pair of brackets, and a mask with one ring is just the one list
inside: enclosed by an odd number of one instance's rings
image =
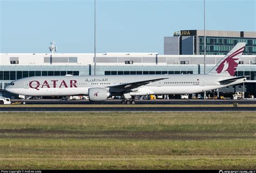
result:
[(90, 101), (104, 101), (110, 97), (110, 92), (105, 88), (89, 88)]

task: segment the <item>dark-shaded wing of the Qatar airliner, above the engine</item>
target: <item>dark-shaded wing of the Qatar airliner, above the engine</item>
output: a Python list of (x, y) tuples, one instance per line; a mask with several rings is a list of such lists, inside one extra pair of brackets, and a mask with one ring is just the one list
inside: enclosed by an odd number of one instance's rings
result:
[(110, 91), (113, 91), (113, 92), (131, 91), (131, 89), (138, 88), (140, 86), (150, 84), (151, 82), (156, 82), (156, 81), (163, 80), (163, 79), (169, 79), (169, 78), (143, 80), (143, 81), (131, 82), (131, 83), (121, 84), (121, 85), (114, 85), (114, 86), (109, 86), (109, 87), (110, 87)]

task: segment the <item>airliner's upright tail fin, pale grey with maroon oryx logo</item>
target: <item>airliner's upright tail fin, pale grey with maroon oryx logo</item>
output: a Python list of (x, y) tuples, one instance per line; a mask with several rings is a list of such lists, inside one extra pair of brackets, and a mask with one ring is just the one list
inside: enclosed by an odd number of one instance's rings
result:
[(215, 65), (208, 74), (219, 74), (234, 76), (237, 71), (237, 66), (241, 60), (242, 52), (245, 49), (246, 43), (237, 43), (226, 56)]

